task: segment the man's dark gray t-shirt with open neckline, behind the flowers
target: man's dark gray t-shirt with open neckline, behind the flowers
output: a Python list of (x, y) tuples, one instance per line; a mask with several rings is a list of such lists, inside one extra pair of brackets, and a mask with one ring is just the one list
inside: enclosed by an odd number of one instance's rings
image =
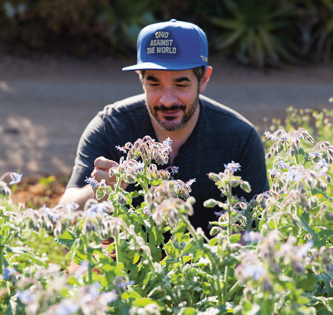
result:
[[(209, 198), (224, 201), (214, 182), (207, 173), (224, 171), (223, 164), (231, 161), (241, 165), (236, 175), (250, 183), (252, 191), (245, 193), (239, 186), (232, 193), (249, 201), (255, 194), (269, 189), (266, 176), (264, 149), (254, 126), (243, 116), (205, 96), (200, 95), (200, 115), (198, 122), (179, 148), (173, 165), (178, 166), (174, 179), (184, 182), (196, 178), (192, 184), (191, 196), (195, 197), (194, 215), (190, 221), (195, 228), (200, 226), (208, 235), (208, 222), (216, 220), (214, 211), (220, 208), (204, 208), (203, 202)], [(75, 159), (73, 173), (67, 187), (83, 187), (86, 176), (94, 170), (94, 161), (99, 156), (119, 161), (126, 156), (116, 149), (126, 142), (149, 135), (157, 139), (145, 105), (145, 95), (137, 95), (107, 105), (89, 123), (83, 132)], [(172, 139), (171, 139), (172, 140)], [(167, 166), (164, 165), (163, 168)], [(158, 166), (161, 169), (161, 165)], [(135, 190), (134, 184), (127, 191)], [(134, 204), (140, 204), (135, 198)], [(139, 199), (139, 200), (138, 200)]]

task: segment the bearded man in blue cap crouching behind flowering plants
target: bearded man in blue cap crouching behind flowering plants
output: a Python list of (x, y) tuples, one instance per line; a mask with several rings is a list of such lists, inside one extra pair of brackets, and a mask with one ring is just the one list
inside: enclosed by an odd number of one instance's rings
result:
[[(190, 220), (206, 235), (208, 222), (216, 216), (203, 202), (223, 200), (207, 173), (222, 172), (224, 163), (235, 161), (241, 165), (237, 175), (250, 183), (252, 191), (245, 193), (237, 187), (233, 194), (249, 200), (268, 190), (264, 150), (253, 125), (230, 108), (199, 95), (212, 72), (207, 60), (207, 38), (196, 25), (172, 19), (145, 27), (138, 37), (137, 65), (123, 68), (138, 72), (145, 93), (106, 106), (90, 122), (80, 139), (61, 203), (74, 200), (82, 207), (94, 198), (94, 190), (84, 181), (86, 176), (114, 185), (108, 170), (118, 166), (123, 156), (116, 146), (146, 135), (159, 142), (167, 137), (172, 140), (168, 166), (179, 167), (174, 179), (187, 182), (196, 178)], [(131, 184), (126, 189), (135, 188)]]

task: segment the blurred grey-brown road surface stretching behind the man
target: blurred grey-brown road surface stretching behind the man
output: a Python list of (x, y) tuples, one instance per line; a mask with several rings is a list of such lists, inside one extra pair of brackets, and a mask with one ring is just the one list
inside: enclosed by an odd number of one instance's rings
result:
[[(0, 55), (0, 174), (69, 175), (80, 136), (99, 110), (142, 93), (135, 61)], [(204, 95), (233, 108), (264, 132), (263, 117), (285, 108), (332, 108), (333, 71), (325, 66), (265, 71), (224, 58), (210, 60)]]

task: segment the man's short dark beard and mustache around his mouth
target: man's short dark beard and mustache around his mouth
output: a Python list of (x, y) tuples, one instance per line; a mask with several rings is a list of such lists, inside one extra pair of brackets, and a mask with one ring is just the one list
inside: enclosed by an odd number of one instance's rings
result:
[[(154, 118), (154, 120), (156, 121), (156, 123), (159, 125), (160, 128), (166, 131), (177, 131), (183, 128), (185, 124), (191, 119), (198, 105), (198, 101), (199, 101), (199, 88), (196, 93), (195, 100), (193, 101), (193, 103), (188, 105), (188, 109), (187, 106), (185, 105), (174, 104), (170, 107), (166, 107), (165, 105), (162, 104), (160, 106), (157, 105), (154, 106), (153, 110), (151, 110), (151, 106), (149, 105), (147, 99), (146, 99), (146, 107), (148, 109), (149, 115)], [(182, 110), (184, 113), (183, 116), (181, 117), (180, 122), (174, 121), (177, 117), (164, 116), (163, 118), (165, 119), (165, 121), (161, 121), (161, 119), (158, 116), (158, 111), (172, 112), (177, 110)]]

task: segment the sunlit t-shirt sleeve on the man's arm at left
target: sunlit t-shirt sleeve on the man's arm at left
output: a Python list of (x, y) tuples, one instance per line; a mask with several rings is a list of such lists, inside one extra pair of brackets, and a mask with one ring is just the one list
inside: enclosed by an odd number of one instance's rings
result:
[(94, 170), (94, 161), (109, 152), (105, 123), (97, 115), (83, 132), (76, 152), (72, 176), (67, 184), (69, 187), (84, 187), (86, 176), (90, 177)]

